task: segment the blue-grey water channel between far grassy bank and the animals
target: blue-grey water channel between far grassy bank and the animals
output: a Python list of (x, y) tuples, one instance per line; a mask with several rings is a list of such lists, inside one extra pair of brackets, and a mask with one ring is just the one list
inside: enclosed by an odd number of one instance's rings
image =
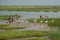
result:
[(21, 15), (21, 20), (28, 18), (39, 18), (40, 15), (46, 15), (49, 18), (60, 17), (60, 12), (19, 12), (19, 11), (0, 11), (0, 15)]

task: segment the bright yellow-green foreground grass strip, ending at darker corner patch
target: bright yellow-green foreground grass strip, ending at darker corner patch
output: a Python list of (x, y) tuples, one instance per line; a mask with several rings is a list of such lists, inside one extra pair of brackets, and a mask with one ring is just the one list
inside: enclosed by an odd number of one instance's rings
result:
[(43, 37), (47, 36), (48, 32), (45, 31), (34, 31), (34, 30), (26, 30), (26, 31), (5, 31), (0, 32), (0, 40), (4, 39), (14, 39), (14, 38), (27, 38), (27, 37)]

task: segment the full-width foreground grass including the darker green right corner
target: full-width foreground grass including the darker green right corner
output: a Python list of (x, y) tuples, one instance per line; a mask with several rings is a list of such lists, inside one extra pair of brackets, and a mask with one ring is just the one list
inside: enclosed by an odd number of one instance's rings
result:
[[(0, 40), (12, 40), (21, 38), (30, 38), (28, 40), (47, 40), (44, 38), (48, 36), (50, 40), (60, 40), (60, 32), (45, 32), (39, 30), (25, 30), (25, 31), (5, 31), (0, 32)], [(31, 38), (37, 37), (37, 38)], [(43, 37), (43, 38), (42, 38)]]

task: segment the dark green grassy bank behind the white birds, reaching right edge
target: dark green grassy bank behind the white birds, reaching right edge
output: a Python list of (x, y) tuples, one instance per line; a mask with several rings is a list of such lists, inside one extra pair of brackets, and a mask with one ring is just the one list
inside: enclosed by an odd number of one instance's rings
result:
[[(34, 20), (37, 20), (38, 23), (45, 23), (45, 21), (48, 21), (47, 24), (51, 27), (55, 26), (55, 27), (60, 27), (60, 18), (48, 18), (48, 19), (40, 19), (40, 18), (37, 18), (37, 19), (27, 19), (27, 21), (29, 22), (34, 22)], [(54, 22), (52, 22), (52, 20)]]

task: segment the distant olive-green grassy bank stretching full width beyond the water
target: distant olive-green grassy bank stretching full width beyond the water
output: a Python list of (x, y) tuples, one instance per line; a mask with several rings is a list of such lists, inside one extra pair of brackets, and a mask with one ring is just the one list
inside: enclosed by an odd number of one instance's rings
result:
[(27, 11), (27, 12), (58, 12), (60, 11), (60, 6), (0, 6), (2, 11)]

